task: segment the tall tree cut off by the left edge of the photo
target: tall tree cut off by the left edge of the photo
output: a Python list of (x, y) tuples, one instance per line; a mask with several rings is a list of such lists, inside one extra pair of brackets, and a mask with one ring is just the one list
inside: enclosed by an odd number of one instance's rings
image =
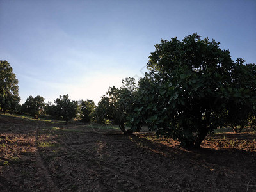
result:
[(7, 61), (0, 60), (0, 106), (4, 113), (15, 111), (20, 102), (18, 80)]

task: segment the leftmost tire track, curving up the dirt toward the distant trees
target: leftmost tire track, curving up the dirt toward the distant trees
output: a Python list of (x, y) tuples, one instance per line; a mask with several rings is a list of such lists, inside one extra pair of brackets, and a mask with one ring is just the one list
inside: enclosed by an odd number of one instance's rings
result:
[(47, 167), (44, 165), (44, 160), (42, 159), (42, 155), (40, 153), (40, 147), (38, 147), (38, 138), (39, 138), (39, 134), (38, 134), (38, 125), (36, 125), (36, 131), (35, 131), (35, 145), (36, 145), (36, 153), (35, 153), (35, 157), (36, 157), (36, 162), (38, 163), (38, 171), (41, 172), (42, 175), (44, 175), (45, 177), (45, 186), (47, 186), (47, 190), (49, 189), (49, 191), (60, 191), (60, 189), (58, 188), (57, 184), (54, 182), (54, 180), (52, 179), (49, 170), (47, 169)]

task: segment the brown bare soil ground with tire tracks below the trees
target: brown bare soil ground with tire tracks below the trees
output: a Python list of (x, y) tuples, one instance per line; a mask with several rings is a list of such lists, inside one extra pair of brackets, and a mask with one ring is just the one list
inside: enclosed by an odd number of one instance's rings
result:
[(151, 132), (0, 115), (0, 191), (256, 191), (256, 135), (200, 150)]

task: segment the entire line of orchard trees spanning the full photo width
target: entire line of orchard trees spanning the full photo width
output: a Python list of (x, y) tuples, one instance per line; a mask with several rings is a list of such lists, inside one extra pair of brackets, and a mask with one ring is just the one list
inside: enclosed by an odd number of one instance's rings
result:
[[(218, 127), (230, 126), (241, 132), (256, 124), (256, 65), (241, 58), (232, 60), (230, 52), (219, 45), (197, 33), (182, 41), (176, 37), (161, 40), (148, 57), (148, 72), (138, 84), (129, 77), (121, 88), (109, 87), (97, 106), (93, 100), (71, 101), (68, 95), (54, 104), (30, 96), (21, 109), (35, 118), (44, 112), (66, 123), (80, 115), (78, 119), (84, 122), (118, 124), (124, 134), (140, 131), (144, 125), (157, 136), (179, 140), (182, 147), (198, 148)], [(11, 68), (1, 61), (1, 72), (5, 71), (2, 62)], [(15, 74), (10, 74), (6, 77), (15, 79)], [(7, 80), (2, 79), (1, 108), (5, 113), (19, 103), (19, 95), (13, 90), (6, 92), (3, 84)], [(12, 86), (18, 87), (16, 79), (6, 87)]]

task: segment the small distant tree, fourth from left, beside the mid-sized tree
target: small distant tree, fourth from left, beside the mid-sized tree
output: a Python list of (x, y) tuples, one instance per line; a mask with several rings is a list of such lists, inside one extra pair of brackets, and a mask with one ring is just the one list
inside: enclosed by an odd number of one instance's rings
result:
[(93, 110), (96, 105), (93, 100), (79, 100), (78, 102), (78, 118), (85, 123), (90, 123)]

